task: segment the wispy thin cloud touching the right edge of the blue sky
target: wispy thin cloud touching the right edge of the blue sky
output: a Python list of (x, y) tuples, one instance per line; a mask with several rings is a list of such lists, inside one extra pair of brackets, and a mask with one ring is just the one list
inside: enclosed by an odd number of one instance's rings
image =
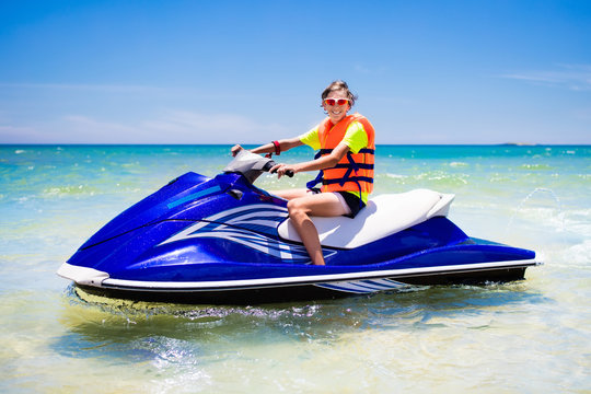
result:
[(591, 65), (565, 65), (559, 70), (518, 72), (505, 74), (502, 78), (572, 91), (589, 91), (591, 90)]

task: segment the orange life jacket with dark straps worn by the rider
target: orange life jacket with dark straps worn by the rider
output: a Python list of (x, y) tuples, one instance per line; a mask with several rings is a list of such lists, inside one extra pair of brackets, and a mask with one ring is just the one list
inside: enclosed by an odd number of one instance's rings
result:
[(363, 125), (368, 135), (368, 146), (358, 153), (347, 152), (345, 157), (332, 169), (320, 172), (316, 179), (309, 182), (309, 188), (322, 181), (322, 192), (361, 192), (370, 194), (373, 190), (373, 157), (375, 151), (373, 126), (360, 114), (348, 115), (336, 125), (329, 118), (318, 126), (321, 150), (316, 159), (331, 154), (345, 137), (347, 128), (354, 121)]

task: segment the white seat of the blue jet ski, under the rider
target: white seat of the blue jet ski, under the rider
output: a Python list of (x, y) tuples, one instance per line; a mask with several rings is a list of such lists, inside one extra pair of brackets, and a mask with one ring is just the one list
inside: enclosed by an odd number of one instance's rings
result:
[[(318, 230), (323, 246), (355, 248), (395, 234), (432, 217), (448, 216), (454, 197), (455, 195), (429, 189), (384, 194), (371, 198), (355, 219), (313, 217), (312, 221)], [(301, 242), (290, 219), (285, 220), (278, 231), (279, 236), (285, 240)]]

